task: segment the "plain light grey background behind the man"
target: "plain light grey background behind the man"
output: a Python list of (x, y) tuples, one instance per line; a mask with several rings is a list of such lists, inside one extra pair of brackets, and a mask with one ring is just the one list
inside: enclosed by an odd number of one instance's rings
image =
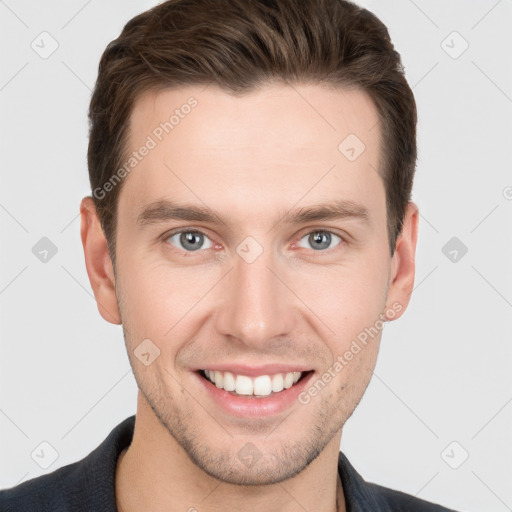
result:
[[(0, 0), (0, 488), (81, 459), (136, 410), (78, 212), (99, 58), (155, 4)], [(512, 510), (512, 0), (360, 4), (389, 27), (416, 96), (421, 222), (411, 303), (386, 325), (341, 448), (367, 480), (458, 510)], [(31, 47), (52, 39), (46, 59)], [(58, 250), (46, 263), (32, 252), (42, 237)], [(442, 251), (452, 237), (468, 249), (454, 246), (455, 262)], [(46, 469), (42, 442), (58, 453)]]

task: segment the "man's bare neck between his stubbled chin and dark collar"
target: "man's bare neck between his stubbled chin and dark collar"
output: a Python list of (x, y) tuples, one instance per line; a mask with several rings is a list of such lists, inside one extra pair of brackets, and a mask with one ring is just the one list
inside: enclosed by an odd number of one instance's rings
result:
[(159, 422), (138, 402), (132, 443), (120, 455), (115, 477), (119, 512), (345, 512), (338, 475), (341, 431), (301, 473), (271, 485), (220, 481), (196, 466)]

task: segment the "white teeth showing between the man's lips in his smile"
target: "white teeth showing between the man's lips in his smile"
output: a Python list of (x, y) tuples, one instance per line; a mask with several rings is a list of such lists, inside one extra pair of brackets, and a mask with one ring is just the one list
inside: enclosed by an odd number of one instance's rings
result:
[(248, 377), (228, 371), (200, 370), (201, 377), (234, 396), (263, 398), (290, 389), (313, 370)]

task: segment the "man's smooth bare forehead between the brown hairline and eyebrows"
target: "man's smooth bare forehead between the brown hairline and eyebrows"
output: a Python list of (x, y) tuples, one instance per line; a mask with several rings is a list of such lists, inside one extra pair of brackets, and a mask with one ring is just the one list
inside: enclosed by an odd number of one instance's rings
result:
[(142, 95), (128, 155), (139, 154), (120, 203), (229, 206), (239, 216), (346, 196), (383, 203), (378, 115), (361, 90), (266, 85), (241, 96), (214, 86)]

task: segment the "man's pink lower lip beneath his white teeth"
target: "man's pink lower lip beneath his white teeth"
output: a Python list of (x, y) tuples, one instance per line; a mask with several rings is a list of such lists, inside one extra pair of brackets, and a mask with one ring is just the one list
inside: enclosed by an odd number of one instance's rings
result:
[(313, 374), (313, 371), (309, 372), (291, 388), (283, 389), (283, 391), (278, 393), (272, 393), (263, 397), (249, 397), (232, 395), (230, 392), (218, 388), (211, 381), (200, 375), (199, 372), (195, 372), (201, 385), (221, 409), (234, 416), (253, 418), (279, 414), (294, 402), (298, 402), (298, 395), (304, 391)]

